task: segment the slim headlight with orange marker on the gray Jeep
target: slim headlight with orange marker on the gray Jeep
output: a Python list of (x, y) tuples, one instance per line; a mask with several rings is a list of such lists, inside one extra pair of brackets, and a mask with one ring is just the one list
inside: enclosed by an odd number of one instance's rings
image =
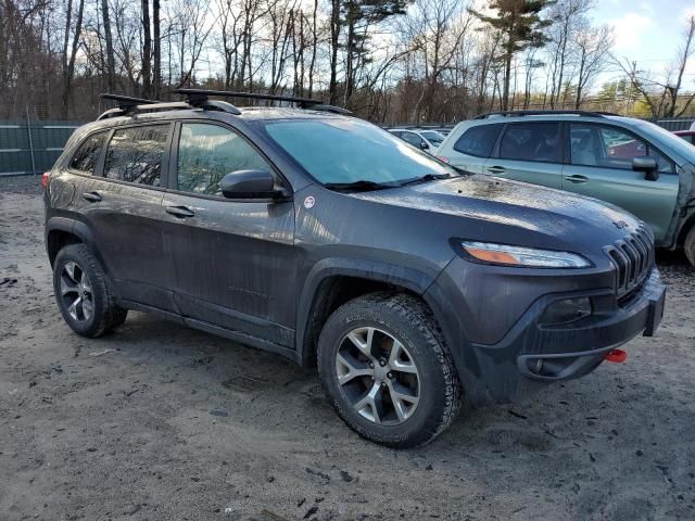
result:
[(491, 242), (463, 241), (464, 251), (477, 260), (535, 268), (587, 268), (591, 263), (577, 253), (508, 246)]

